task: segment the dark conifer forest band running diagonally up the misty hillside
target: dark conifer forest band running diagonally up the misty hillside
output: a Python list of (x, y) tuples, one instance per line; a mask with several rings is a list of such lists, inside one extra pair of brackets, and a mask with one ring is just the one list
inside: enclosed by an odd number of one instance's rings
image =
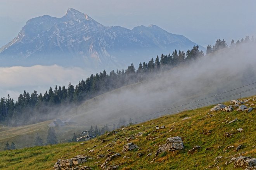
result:
[[(232, 40), (230, 48), (234, 48), (240, 43), (254, 41), (254, 38), (247, 36), (245, 39), (238, 40), (236, 43)], [(206, 55), (217, 50), (227, 48), (227, 43), (223, 39), (217, 39), (216, 43), (207, 46)], [(14, 101), (9, 95), (0, 99), (0, 122), (9, 126), (34, 124), (51, 118), (55, 118), (59, 113), (59, 108), (69, 106), (72, 108), (79, 105), (85, 100), (91, 99), (99, 94), (106, 93), (113, 89), (133, 84), (136, 82), (150, 79), (153, 74), (161, 74), (161, 72), (169, 70), (180, 64), (189, 63), (191, 60), (203, 57), (202, 51), (198, 46), (194, 46), (191, 50), (183, 52), (174, 50), (168, 55), (162, 54), (155, 59), (151, 58), (149, 62), (143, 62), (135, 69), (135, 65), (131, 63), (127, 69), (112, 70), (109, 74), (105, 70), (95, 75), (91, 75), (85, 80), (81, 80), (77, 85), (69, 83), (65, 86), (50, 87), (45, 93), (33, 91), (29, 94), (24, 90), (19, 95), (17, 101)]]

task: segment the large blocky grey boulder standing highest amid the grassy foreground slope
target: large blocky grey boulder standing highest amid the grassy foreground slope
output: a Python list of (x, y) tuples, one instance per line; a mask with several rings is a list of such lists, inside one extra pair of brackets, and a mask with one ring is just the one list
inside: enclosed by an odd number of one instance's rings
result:
[(156, 151), (156, 155), (166, 150), (171, 152), (171, 151), (175, 151), (177, 149), (183, 149), (183, 148), (184, 146), (183, 146), (183, 141), (181, 137), (179, 136), (169, 137), (166, 139), (166, 144), (159, 145), (159, 148)]

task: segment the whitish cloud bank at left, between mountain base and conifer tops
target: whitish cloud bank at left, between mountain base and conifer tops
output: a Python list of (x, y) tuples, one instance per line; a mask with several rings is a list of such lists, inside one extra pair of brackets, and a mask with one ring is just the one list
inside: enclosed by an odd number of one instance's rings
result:
[(90, 70), (83, 70), (78, 67), (61, 67), (58, 65), (32, 67), (0, 67), (0, 97), (10, 97), (17, 101), (19, 94), (24, 90), (31, 94), (34, 90), (38, 94), (44, 94), (50, 86), (54, 89), (57, 86), (68, 86), (78, 84), (81, 79), (90, 75)]

